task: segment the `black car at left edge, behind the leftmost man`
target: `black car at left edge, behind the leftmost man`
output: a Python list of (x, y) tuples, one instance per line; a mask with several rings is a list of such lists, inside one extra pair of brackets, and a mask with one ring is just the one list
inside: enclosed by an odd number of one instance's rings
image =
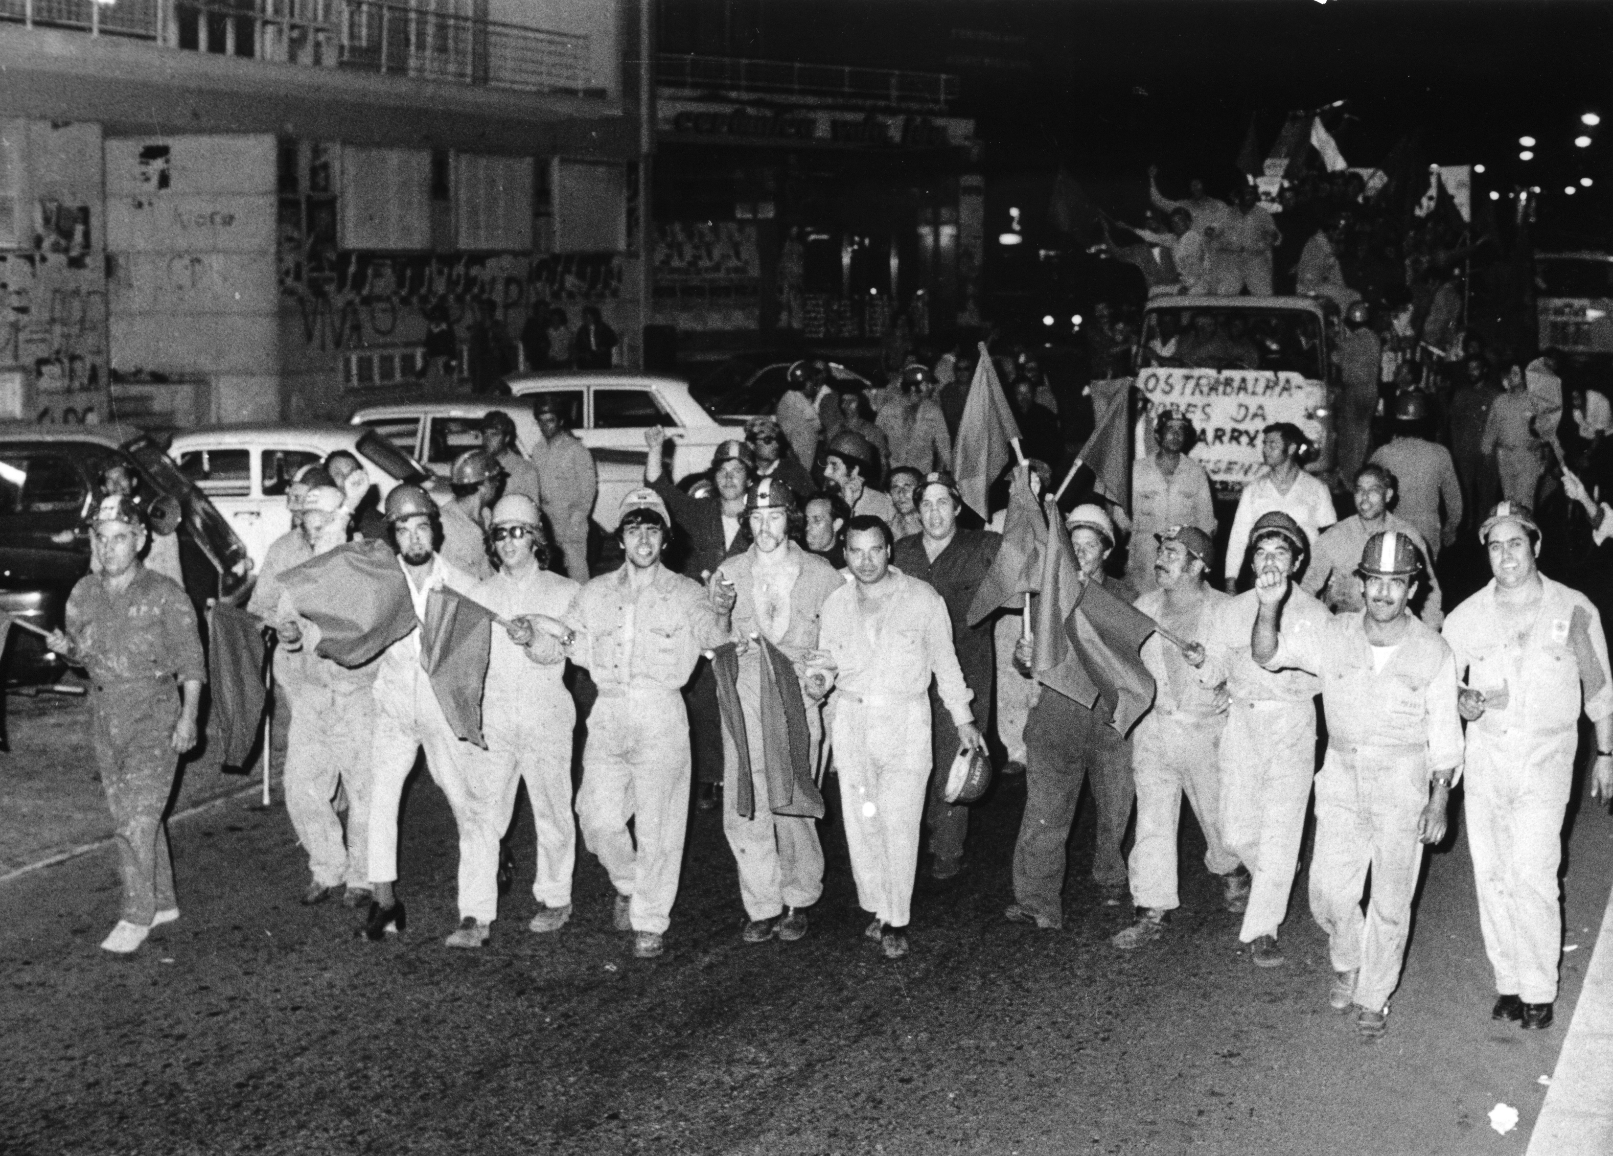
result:
[[(90, 569), (89, 516), (111, 464), (134, 469), (144, 493), (179, 503), (179, 564), (198, 613), (208, 600), (245, 603), (245, 542), (153, 439), (129, 432), (0, 422), (0, 611), (47, 630), (63, 624), (68, 595)], [(66, 672), (39, 635), (11, 634), (0, 640), (8, 684), (55, 682)]]

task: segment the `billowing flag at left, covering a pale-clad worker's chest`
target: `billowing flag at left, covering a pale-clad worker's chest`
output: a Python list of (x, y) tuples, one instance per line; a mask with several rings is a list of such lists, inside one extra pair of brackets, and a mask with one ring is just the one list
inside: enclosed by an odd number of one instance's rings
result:
[(319, 627), (315, 653), (363, 666), (419, 626), (408, 579), (386, 542), (348, 542), (281, 574), (297, 613)]

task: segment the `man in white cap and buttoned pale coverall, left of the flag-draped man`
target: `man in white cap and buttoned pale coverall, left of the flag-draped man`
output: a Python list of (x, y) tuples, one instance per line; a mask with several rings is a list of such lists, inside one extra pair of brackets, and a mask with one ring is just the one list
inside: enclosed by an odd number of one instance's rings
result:
[[(589, 667), (598, 701), (589, 714), (577, 821), (616, 888), (616, 930), (634, 954), (661, 954), (689, 821), (689, 716), (679, 695), (702, 650), (729, 640), (734, 588), (661, 564), (671, 519), (645, 487), (621, 503), (626, 561), (577, 592), (565, 624), (566, 655)], [(627, 830), (632, 819), (632, 832)]]

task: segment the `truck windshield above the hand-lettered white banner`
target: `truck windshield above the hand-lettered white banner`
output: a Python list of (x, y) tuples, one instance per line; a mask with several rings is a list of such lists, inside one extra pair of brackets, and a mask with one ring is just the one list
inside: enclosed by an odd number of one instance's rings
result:
[(1268, 369), (1326, 377), (1321, 318), (1308, 310), (1152, 308), (1139, 364)]

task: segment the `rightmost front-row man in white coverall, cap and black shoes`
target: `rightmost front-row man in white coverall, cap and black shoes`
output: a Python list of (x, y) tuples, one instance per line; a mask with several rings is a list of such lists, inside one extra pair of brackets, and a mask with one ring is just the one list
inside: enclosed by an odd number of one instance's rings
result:
[(1563, 813), (1578, 722), (1595, 729), (1590, 796), (1613, 798), (1613, 674), (1597, 608), (1540, 574), (1540, 530), (1502, 501), (1479, 529), (1490, 584), (1445, 619), (1468, 721), (1468, 848), (1495, 1019), (1540, 1029), (1557, 1001)]

